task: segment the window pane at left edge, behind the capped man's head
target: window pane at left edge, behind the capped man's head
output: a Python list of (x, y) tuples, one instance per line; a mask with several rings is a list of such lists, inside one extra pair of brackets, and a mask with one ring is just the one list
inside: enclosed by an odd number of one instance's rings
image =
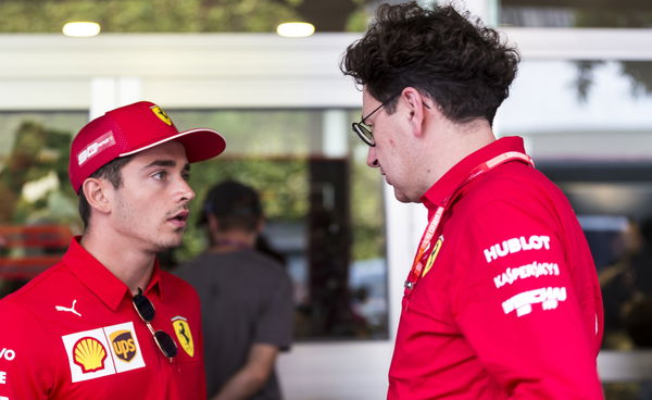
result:
[(0, 113), (0, 297), (57, 262), (80, 230), (67, 160), (87, 115)]

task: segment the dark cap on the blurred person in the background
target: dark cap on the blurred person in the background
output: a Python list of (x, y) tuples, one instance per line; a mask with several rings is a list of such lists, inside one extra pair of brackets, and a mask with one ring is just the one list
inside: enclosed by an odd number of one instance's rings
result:
[(235, 180), (215, 185), (206, 195), (199, 224), (212, 214), (220, 220), (220, 230), (243, 229), (254, 232), (263, 217), (263, 208), (258, 192)]

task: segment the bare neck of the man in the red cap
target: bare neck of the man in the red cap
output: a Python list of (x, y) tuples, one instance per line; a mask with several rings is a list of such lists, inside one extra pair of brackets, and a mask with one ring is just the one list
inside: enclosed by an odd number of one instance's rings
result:
[(145, 290), (154, 270), (155, 253), (138, 249), (130, 240), (120, 236), (99, 236), (88, 229), (82, 237), (82, 247), (127, 285), (131, 295), (137, 293), (138, 288)]

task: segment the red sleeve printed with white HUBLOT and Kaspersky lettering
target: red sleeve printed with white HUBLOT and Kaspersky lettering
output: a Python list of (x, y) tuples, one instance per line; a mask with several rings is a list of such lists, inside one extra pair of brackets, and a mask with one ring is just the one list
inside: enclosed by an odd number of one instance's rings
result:
[[(594, 326), (587, 326), (556, 215), (493, 201), (457, 243), (453, 311), (490, 375), (524, 399), (600, 399)], [(581, 250), (580, 250), (581, 251)], [(594, 267), (593, 267), (594, 268)]]

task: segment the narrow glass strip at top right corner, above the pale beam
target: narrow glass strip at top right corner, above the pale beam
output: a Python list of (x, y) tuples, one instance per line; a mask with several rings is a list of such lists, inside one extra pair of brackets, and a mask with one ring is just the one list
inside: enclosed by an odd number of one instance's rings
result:
[(501, 0), (500, 24), (527, 27), (652, 27), (645, 0)]

